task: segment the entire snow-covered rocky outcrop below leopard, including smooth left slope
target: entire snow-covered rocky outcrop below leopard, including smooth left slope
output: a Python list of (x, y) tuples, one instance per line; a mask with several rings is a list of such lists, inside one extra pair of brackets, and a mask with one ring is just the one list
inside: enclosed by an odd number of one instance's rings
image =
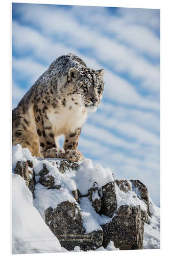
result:
[[(13, 174), (14, 253), (160, 248), (159, 208), (140, 181), (114, 181), (109, 168), (88, 159), (32, 157), (19, 144), (13, 146), (13, 173), (18, 174)], [(34, 199), (28, 185), (32, 173)]]

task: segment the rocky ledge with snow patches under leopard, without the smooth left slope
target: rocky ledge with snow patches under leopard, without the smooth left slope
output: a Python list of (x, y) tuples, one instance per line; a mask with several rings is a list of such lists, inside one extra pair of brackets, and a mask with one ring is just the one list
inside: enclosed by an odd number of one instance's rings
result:
[(91, 160), (30, 159), (16, 161), (14, 172), (62, 247), (88, 251), (113, 241), (120, 250), (143, 249), (144, 223), (152, 217), (143, 183), (114, 180), (109, 168)]

